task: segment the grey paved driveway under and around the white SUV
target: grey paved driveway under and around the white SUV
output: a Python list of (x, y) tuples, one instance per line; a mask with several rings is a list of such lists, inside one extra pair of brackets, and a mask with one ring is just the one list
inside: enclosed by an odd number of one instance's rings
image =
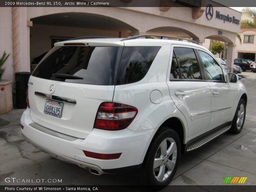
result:
[[(238, 135), (225, 133), (204, 147), (181, 156), (170, 185), (221, 185), (225, 177), (248, 177), (245, 185), (256, 185), (256, 73), (243, 72), (248, 91), (246, 120)], [(132, 185), (131, 174), (96, 176), (33, 148), (20, 135), (20, 116), (15, 109), (0, 115), (0, 185), (6, 177), (62, 179), (62, 185)], [(14, 183), (26, 184), (26, 183)], [(27, 183), (28, 184), (28, 183)], [(52, 183), (31, 183), (52, 184)]]

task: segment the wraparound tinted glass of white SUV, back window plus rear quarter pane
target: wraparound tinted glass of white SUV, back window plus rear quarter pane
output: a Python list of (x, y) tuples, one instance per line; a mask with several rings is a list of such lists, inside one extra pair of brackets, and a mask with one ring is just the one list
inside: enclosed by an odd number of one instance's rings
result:
[(94, 85), (134, 83), (147, 74), (159, 49), (56, 46), (40, 61), (32, 76)]

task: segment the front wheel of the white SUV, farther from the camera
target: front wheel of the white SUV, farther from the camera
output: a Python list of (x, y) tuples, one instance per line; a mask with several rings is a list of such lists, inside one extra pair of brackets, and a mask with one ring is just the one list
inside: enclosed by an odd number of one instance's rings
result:
[(236, 108), (236, 114), (232, 121), (230, 132), (238, 134), (242, 131), (244, 126), (245, 114), (246, 114), (246, 104), (243, 99), (240, 99)]

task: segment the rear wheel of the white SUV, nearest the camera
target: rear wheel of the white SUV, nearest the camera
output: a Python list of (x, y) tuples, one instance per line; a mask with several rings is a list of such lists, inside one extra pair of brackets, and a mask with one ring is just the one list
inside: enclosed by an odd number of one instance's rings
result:
[(164, 187), (172, 180), (180, 161), (179, 135), (169, 127), (159, 129), (160, 132), (154, 136), (148, 148), (142, 167), (135, 173), (142, 185)]

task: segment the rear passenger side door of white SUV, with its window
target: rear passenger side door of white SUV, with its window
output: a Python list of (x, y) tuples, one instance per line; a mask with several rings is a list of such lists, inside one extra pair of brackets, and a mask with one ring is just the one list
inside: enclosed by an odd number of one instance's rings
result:
[(211, 116), (211, 90), (194, 47), (172, 45), (170, 95), (188, 122), (188, 140), (207, 131)]

